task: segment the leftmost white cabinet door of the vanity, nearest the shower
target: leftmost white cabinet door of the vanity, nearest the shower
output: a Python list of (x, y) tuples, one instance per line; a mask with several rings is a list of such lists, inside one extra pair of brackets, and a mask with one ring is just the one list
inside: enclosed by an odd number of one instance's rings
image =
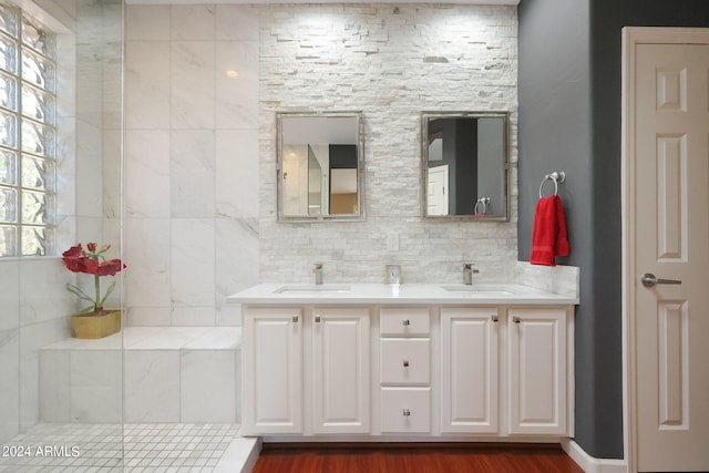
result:
[(249, 308), (243, 330), (244, 432), (301, 432), (301, 310)]

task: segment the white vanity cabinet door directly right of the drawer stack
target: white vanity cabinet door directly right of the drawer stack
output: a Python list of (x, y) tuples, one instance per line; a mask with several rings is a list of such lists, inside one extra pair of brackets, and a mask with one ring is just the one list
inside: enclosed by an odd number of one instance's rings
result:
[(497, 308), (441, 309), (441, 432), (497, 432)]

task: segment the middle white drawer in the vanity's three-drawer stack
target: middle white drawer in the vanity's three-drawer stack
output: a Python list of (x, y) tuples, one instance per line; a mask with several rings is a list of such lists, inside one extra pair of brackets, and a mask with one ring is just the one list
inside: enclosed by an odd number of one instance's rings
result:
[(431, 382), (431, 349), (428, 338), (386, 338), (379, 358), (383, 384)]

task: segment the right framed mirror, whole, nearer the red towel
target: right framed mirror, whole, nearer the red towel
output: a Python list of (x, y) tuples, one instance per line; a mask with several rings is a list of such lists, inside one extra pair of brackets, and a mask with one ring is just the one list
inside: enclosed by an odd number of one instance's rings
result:
[(422, 114), (424, 218), (508, 219), (508, 113)]

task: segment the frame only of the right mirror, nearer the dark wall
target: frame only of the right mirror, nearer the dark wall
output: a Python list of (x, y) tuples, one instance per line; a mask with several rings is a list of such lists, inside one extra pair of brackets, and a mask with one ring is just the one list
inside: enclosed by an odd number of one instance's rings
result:
[[(429, 121), (435, 119), (503, 119), (503, 192), (502, 215), (428, 215)], [(427, 220), (510, 222), (510, 112), (422, 112), (421, 113), (421, 218)]]

